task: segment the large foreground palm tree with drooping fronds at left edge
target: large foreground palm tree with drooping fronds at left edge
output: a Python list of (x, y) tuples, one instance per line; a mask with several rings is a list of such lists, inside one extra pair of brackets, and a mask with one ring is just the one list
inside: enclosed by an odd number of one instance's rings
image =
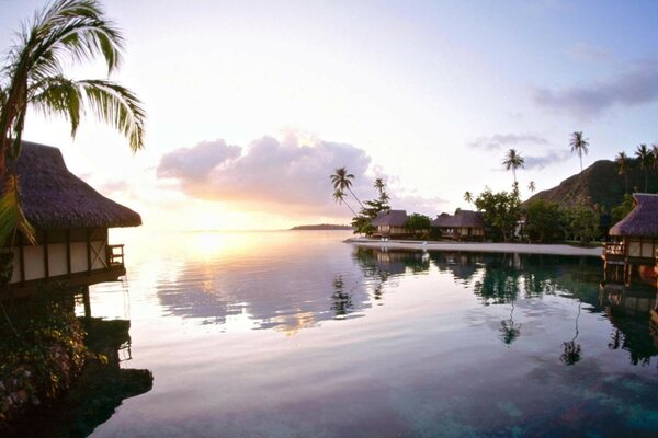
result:
[[(23, 231), (33, 240), (21, 211), (20, 182), (8, 172), (21, 153), (29, 108), (63, 116), (76, 135), (84, 108), (127, 137), (133, 152), (144, 148), (145, 112), (137, 96), (103, 79), (77, 80), (65, 67), (102, 58), (107, 74), (122, 60), (123, 37), (95, 0), (57, 0), (24, 25), (0, 68), (0, 243)], [(11, 173), (11, 174), (9, 174)]]

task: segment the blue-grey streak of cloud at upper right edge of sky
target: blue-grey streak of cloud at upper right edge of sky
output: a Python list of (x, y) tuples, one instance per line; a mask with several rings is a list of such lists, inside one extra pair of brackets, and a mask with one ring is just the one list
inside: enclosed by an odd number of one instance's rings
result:
[(636, 62), (631, 69), (604, 80), (561, 89), (537, 88), (535, 104), (592, 118), (614, 106), (637, 106), (658, 100), (658, 62)]

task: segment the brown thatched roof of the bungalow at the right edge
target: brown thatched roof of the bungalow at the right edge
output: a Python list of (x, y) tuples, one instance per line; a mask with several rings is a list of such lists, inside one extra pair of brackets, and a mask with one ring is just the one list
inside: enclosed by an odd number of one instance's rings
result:
[(633, 194), (635, 208), (610, 229), (610, 235), (658, 238), (658, 195)]

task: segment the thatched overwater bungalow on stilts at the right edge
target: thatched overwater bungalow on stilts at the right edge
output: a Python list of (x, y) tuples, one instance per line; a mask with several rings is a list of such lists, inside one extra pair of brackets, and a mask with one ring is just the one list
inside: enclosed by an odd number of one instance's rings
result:
[(622, 267), (624, 284), (631, 284), (634, 268), (640, 277), (655, 276), (658, 256), (658, 195), (636, 193), (633, 195), (635, 207), (621, 221), (610, 229), (615, 242), (603, 247), (604, 270), (613, 268), (613, 280), (619, 278)]

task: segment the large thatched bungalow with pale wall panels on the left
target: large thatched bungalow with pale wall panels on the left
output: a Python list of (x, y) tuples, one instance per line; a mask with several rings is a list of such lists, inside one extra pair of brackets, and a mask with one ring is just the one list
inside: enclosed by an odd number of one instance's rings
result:
[(16, 172), (21, 205), (37, 241), (31, 245), (16, 235), (11, 296), (45, 283), (88, 286), (125, 274), (123, 245), (109, 244), (107, 229), (140, 226), (137, 212), (70, 173), (59, 149), (24, 141)]

